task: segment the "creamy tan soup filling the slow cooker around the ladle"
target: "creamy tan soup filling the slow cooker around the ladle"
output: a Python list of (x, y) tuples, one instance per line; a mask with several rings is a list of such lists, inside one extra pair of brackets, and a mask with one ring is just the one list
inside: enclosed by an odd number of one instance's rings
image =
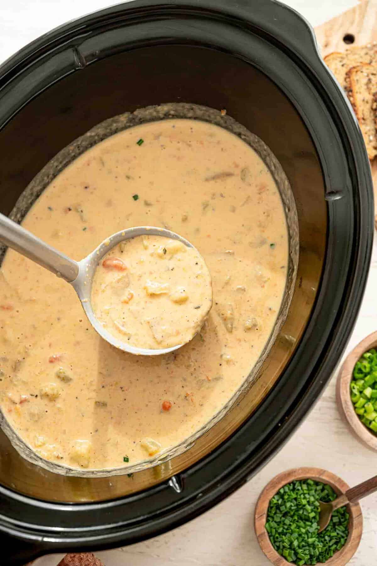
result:
[(202, 329), (167, 355), (113, 348), (70, 285), (12, 250), (3, 260), (1, 409), (55, 464), (119, 468), (181, 443), (234, 395), (275, 324), (288, 263), (285, 214), (269, 170), (238, 136), (190, 119), (128, 128), (63, 169), (23, 221), (76, 260), (143, 225), (187, 238), (212, 277)]

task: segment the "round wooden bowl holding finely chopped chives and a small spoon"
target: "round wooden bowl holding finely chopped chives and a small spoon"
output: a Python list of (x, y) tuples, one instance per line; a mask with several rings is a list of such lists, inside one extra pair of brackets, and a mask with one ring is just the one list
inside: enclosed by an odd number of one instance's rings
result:
[[(292, 566), (292, 562), (288, 562), (283, 556), (280, 556), (280, 554), (276, 552), (269, 540), (267, 530), (265, 530), (269, 501), (285, 484), (297, 479), (309, 478), (318, 482), (328, 483), (337, 495), (341, 495), (349, 489), (349, 485), (341, 478), (332, 474), (331, 471), (322, 470), (321, 468), (296, 468), (294, 470), (287, 470), (282, 474), (276, 475), (275, 478), (265, 486), (256, 503), (254, 528), (260, 548), (262, 548), (268, 560), (276, 566)], [(363, 530), (361, 507), (358, 503), (349, 503), (347, 509), (349, 512), (348, 538), (344, 547), (324, 563), (327, 566), (344, 566), (347, 564), (355, 554), (361, 541)]]

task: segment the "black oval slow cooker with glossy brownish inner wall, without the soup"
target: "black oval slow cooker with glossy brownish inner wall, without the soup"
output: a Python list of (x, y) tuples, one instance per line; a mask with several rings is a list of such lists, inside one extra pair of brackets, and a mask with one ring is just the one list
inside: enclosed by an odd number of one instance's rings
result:
[(272, 149), (298, 213), (288, 317), (258, 379), (185, 453), (113, 478), (66, 477), (0, 433), (3, 566), (134, 543), (218, 503), (281, 448), (335, 368), (369, 267), (369, 161), (310, 26), (273, 0), (135, 0), (42, 36), (0, 67), (1, 212), (98, 122), (162, 102), (226, 109)]

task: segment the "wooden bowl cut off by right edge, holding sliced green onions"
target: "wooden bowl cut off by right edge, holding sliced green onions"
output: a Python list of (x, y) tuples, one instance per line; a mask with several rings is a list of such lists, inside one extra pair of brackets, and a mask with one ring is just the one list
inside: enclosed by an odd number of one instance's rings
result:
[(377, 332), (373, 332), (364, 338), (364, 340), (359, 342), (359, 344), (348, 354), (341, 367), (336, 382), (336, 402), (342, 418), (350, 427), (355, 438), (371, 450), (377, 450), (377, 436), (360, 421), (355, 413), (349, 392), (349, 384), (352, 380), (352, 372), (355, 367), (355, 363), (364, 352), (376, 347)]

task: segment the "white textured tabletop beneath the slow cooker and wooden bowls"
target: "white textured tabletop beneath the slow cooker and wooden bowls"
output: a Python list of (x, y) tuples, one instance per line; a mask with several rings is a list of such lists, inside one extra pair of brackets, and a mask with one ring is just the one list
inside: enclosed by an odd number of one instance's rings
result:
[[(356, 0), (289, 0), (312, 25), (354, 6)], [(4, 2), (5, 4), (5, 2)], [(13, 0), (1, 6), (0, 62), (49, 29), (110, 5), (104, 0)], [(358, 322), (346, 351), (377, 325), (377, 245)], [(279, 454), (251, 481), (217, 507), (181, 528), (127, 548), (98, 552), (105, 566), (268, 566), (252, 526), (254, 505), (265, 484), (280, 471), (296, 466), (320, 466), (349, 484), (375, 471), (376, 455), (350, 436), (335, 404), (335, 377), (309, 417)], [(350, 564), (377, 564), (377, 496), (362, 502), (364, 530)], [(35, 566), (56, 566), (63, 555), (45, 556)]]

